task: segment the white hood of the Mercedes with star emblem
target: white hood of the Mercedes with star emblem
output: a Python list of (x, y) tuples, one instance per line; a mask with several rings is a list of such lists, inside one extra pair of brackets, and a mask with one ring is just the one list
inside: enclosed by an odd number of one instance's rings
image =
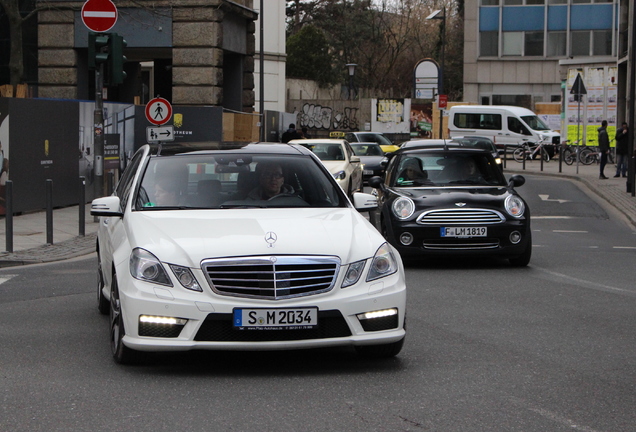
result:
[(140, 211), (125, 221), (132, 248), (192, 268), (253, 255), (330, 255), (347, 264), (373, 256), (385, 241), (351, 208)]

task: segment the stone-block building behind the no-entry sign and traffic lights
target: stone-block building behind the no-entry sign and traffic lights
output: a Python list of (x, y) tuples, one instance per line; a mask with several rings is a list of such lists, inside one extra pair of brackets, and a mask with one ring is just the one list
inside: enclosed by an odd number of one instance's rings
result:
[[(54, 7), (38, 14), (38, 96), (92, 99), (84, 2), (47, 2)], [(143, 104), (160, 95), (178, 105), (253, 111), (253, 0), (118, 1), (117, 10), (109, 31), (127, 42), (127, 77), (107, 89), (106, 100)]]

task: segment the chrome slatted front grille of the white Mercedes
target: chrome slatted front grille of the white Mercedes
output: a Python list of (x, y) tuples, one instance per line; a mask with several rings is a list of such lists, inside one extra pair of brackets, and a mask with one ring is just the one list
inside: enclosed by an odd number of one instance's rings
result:
[(201, 264), (218, 294), (279, 300), (329, 291), (338, 276), (337, 257), (256, 256), (210, 259)]

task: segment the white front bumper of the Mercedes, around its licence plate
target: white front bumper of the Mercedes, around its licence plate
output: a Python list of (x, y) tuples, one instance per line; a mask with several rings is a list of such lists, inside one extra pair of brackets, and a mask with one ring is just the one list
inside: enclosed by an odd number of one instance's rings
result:
[[(178, 285), (169, 288), (130, 277), (121, 269), (118, 278), (126, 335), (124, 344), (139, 351), (282, 350), (327, 346), (374, 345), (404, 338), (406, 286), (402, 267), (385, 278), (340, 288), (346, 269), (326, 293), (284, 300), (224, 296), (202, 283), (203, 293)], [(194, 271), (205, 281), (200, 270)], [(364, 276), (363, 276), (364, 277)], [(234, 308), (317, 307), (318, 326), (310, 330), (238, 330), (232, 326)], [(380, 318), (377, 325), (358, 314), (396, 308), (393, 321)], [(140, 324), (140, 316), (177, 318), (172, 328)]]

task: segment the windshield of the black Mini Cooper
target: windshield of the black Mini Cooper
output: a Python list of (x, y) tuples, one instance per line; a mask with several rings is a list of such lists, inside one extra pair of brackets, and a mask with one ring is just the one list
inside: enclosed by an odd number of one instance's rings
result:
[(504, 186), (506, 181), (490, 154), (459, 152), (405, 153), (393, 162), (393, 187)]

